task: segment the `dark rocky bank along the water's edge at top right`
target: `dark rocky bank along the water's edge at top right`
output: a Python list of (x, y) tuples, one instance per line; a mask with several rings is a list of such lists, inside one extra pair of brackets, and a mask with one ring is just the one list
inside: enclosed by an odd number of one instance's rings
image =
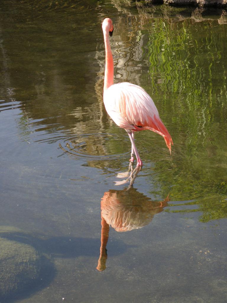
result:
[(219, 0), (112, 0), (111, 3), (119, 12), (130, 14), (130, 16), (139, 14), (143, 20), (145, 20), (145, 18), (164, 18), (169, 19), (169, 21), (172, 20), (172, 22), (184, 19), (192, 19), (195, 22), (217, 20), (219, 24), (227, 24), (227, 0), (221, 0), (221, 5), (218, 5), (218, 1)]

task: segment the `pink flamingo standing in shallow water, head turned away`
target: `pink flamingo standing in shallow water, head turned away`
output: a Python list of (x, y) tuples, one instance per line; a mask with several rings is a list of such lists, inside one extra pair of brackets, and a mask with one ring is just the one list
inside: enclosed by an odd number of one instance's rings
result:
[(132, 83), (122, 82), (113, 84), (113, 55), (110, 48), (110, 37), (113, 34), (113, 23), (110, 18), (106, 18), (102, 24), (105, 50), (106, 66), (104, 76), (103, 101), (107, 113), (113, 121), (121, 128), (124, 128), (132, 143), (130, 161), (134, 161), (134, 154), (137, 158), (137, 166), (142, 166), (134, 142), (134, 132), (150, 129), (163, 136), (171, 154), (172, 138), (168, 130), (159, 117), (158, 110), (152, 98), (145, 90)]

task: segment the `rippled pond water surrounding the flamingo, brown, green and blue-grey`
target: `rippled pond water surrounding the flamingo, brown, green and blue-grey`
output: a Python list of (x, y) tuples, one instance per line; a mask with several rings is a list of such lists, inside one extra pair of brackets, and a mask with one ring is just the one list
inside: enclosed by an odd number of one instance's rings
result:
[[(226, 302), (226, 15), (1, 2), (0, 237), (34, 246), (43, 264), (0, 302)], [(115, 83), (145, 88), (174, 142), (170, 155), (161, 136), (136, 134), (144, 166), (128, 190), (115, 182), (130, 141), (102, 103), (107, 16)], [(112, 221), (100, 272), (110, 205), (128, 231)]]

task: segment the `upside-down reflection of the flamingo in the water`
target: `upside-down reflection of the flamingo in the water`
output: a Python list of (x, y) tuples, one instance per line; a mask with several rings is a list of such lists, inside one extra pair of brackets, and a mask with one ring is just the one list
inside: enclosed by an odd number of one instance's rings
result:
[(109, 229), (112, 226), (116, 231), (131, 231), (148, 225), (154, 215), (163, 211), (169, 201), (169, 195), (163, 201), (151, 201), (133, 188), (133, 182), (137, 177), (140, 167), (133, 170), (130, 175), (130, 185), (123, 190), (111, 189), (104, 193), (101, 199), (101, 247), (97, 270), (106, 269), (107, 241)]

